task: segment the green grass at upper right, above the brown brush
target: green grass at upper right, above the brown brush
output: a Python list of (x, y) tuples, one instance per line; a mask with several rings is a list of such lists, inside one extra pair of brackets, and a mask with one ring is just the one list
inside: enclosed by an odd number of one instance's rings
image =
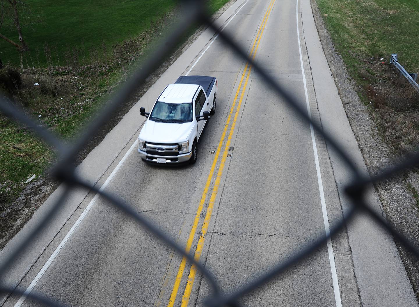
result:
[(419, 0), (316, 0), (336, 50), (354, 79), (365, 60), (392, 53), (419, 72)]

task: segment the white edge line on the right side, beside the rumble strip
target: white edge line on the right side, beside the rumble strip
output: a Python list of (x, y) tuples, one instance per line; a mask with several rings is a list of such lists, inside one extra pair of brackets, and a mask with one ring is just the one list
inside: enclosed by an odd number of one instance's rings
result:
[[(300, 51), (301, 72), (303, 73), (305, 102), (307, 104), (308, 116), (311, 118), (310, 103), (308, 101), (307, 83), (305, 80), (303, 54), (301, 52), (301, 43), (300, 43), (300, 30), (299, 30), (299, 23), (298, 23), (298, 0), (297, 0), (296, 12), (297, 12), (297, 40), (298, 40), (298, 49)], [(324, 199), (323, 181), (321, 180), (320, 164), (318, 162), (316, 138), (314, 136), (313, 125), (311, 123), (310, 123), (310, 132), (311, 132), (311, 141), (313, 143), (314, 162), (316, 163), (317, 181), (318, 181), (318, 189), (320, 191), (320, 201), (321, 201), (321, 210), (323, 212), (324, 230), (326, 232), (326, 236), (328, 236), (330, 234), (329, 220), (327, 217), (326, 201)], [(336, 307), (341, 307), (342, 302), (341, 302), (340, 291), (339, 291), (339, 282), (338, 282), (338, 276), (336, 272), (335, 257), (334, 257), (334, 252), (333, 252), (332, 241), (330, 238), (327, 239), (327, 250), (329, 254), (330, 270), (332, 273), (333, 290), (334, 290), (334, 295), (335, 295)]]

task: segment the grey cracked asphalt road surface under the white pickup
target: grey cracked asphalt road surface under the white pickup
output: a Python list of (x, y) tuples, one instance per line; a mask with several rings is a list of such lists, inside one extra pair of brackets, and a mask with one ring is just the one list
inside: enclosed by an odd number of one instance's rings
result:
[[(320, 119), (324, 106), (317, 105), (321, 83), (317, 88), (316, 73), (328, 78), (324, 82), (331, 77), (327, 70), (320, 73), (327, 67), (325, 59), (310, 54), (318, 37), (316, 41), (309, 7), (304, 0), (297, 23), (295, 0), (237, 0), (219, 22), (301, 106), (310, 108), (313, 118)], [(128, 142), (98, 185), (111, 176), (106, 190), (193, 252), (227, 294), (324, 236), (328, 224), (342, 218), (344, 204), (335, 178), (339, 173), (334, 173), (329, 158), (333, 153), (317, 135), (314, 138), (310, 125), (220, 39), (205, 32), (194, 44), (134, 107), (136, 124), (119, 132)], [(312, 73), (310, 67), (316, 65), (320, 68)], [(198, 161), (179, 167), (145, 164), (134, 144), (143, 120), (137, 109), (150, 110), (161, 85), (186, 73), (218, 79), (217, 111), (200, 140)], [(322, 98), (340, 103), (336, 97)], [(340, 111), (326, 115), (329, 110), (324, 116), (336, 120)], [(88, 193), (73, 201), (74, 212), (67, 214), (68, 220), (20, 277), (19, 289), (26, 289), (43, 271), (32, 291), (70, 306), (202, 306), (211, 293), (202, 275), (103, 199), (93, 203), (94, 196)], [(78, 227), (42, 269), (77, 220)], [(368, 231), (362, 228), (362, 233)], [(365, 240), (357, 232), (358, 237), (352, 235), (350, 227), (348, 232), (243, 297), (243, 305), (417, 306), (392, 238), (371, 232), (371, 240), (388, 253), (360, 249), (357, 258), (354, 249)], [(364, 276), (363, 266), (390, 278)], [(368, 278), (373, 281), (363, 283)], [(4, 306), (38, 306), (30, 299), (16, 304), (19, 298), (9, 297)]]

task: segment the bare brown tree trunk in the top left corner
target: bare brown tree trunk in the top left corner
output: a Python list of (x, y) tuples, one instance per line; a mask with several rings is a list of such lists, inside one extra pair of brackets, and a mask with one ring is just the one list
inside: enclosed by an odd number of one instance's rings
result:
[(16, 30), (18, 31), (20, 44), (16, 43), (15, 41), (12, 41), (11, 39), (7, 38), (1, 33), (0, 33), (0, 38), (4, 39), (8, 43), (18, 48), (19, 51), (25, 52), (25, 51), (28, 51), (29, 49), (25, 41), (23, 40), (23, 36), (22, 36), (22, 27), (19, 21), (19, 13), (18, 13), (18, 3), (19, 5), (26, 6), (26, 4), (21, 1), (0, 0), (0, 28), (1, 26), (3, 26), (5, 18), (10, 18), (13, 21), (13, 25), (16, 27)]

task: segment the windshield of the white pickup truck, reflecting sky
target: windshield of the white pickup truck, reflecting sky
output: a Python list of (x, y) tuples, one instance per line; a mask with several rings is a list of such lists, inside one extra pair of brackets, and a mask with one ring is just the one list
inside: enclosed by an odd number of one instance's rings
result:
[(192, 121), (192, 103), (156, 102), (150, 120), (163, 123), (186, 123)]

